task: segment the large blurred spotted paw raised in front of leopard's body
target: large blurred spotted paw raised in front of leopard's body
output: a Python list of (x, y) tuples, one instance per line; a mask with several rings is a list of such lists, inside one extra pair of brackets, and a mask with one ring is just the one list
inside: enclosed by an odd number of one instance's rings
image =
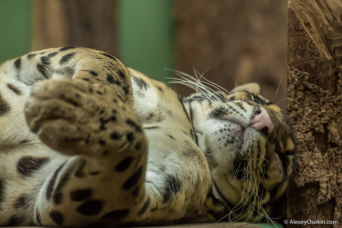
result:
[(37, 82), (25, 116), (43, 143), (68, 155), (97, 156), (146, 147), (135, 114), (105, 85), (65, 76)]

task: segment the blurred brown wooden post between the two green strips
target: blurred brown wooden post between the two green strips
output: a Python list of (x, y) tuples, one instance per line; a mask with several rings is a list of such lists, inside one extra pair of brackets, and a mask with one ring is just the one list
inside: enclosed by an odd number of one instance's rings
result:
[(32, 49), (84, 46), (117, 54), (116, 1), (35, 0)]

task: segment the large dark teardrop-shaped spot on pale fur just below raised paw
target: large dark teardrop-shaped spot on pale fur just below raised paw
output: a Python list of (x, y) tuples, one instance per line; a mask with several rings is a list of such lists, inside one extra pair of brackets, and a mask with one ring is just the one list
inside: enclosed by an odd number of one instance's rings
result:
[(49, 162), (48, 158), (35, 158), (26, 156), (18, 161), (17, 171), (22, 176), (31, 176), (35, 171), (40, 169), (40, 167), (47, 162)]

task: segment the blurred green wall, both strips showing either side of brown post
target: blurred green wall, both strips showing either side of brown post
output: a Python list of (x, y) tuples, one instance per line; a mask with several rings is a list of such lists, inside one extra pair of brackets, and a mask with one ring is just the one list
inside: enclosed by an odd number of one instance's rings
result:
[[(118, 0), (120, 58), (165, 81), (174, 69), (172, 0)], [(0, 63), (30, 51), (31, 0), (0, 0)]]

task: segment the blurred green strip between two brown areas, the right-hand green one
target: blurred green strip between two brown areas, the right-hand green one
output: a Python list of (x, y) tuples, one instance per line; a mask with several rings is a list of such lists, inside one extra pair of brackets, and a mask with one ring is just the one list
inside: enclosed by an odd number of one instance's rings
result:
[(172, 0), (120, 0), (119, 51), (128, 67), (166, 81), (174, 69)]

